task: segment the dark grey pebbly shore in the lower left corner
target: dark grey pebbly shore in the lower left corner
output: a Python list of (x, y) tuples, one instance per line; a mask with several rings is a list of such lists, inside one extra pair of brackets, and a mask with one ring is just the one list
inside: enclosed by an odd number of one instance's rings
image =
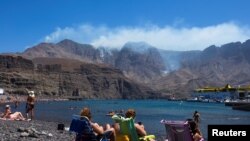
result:
[[(59, 123), (0, 120), (0, 141), (73, 141), (75, 134), (57, 130)], [(69, 127), (65, 124), (65, 127)]]

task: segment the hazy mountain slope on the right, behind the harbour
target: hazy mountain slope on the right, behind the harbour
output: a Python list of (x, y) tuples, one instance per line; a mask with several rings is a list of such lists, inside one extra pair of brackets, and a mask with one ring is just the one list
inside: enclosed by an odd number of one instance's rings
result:
[(192, 56), (180, 55), (180, 68), (154, 80), (158, 90), (177, 95), (188, 95), (200, 87), (223, 87), (250, 85), (250, 40), (210, 46)]

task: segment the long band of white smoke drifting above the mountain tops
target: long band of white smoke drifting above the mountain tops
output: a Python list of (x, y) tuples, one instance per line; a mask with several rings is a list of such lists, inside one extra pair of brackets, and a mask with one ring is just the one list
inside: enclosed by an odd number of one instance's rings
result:
[(220, 46), (229, 42), (250, 38), (250, 28), (227, 22), (206, 27), (144, 27), (93, 26), (83, 24), (76, 27), (58, 27), (44, 38), (45, 42), (58, 42), (71, 39), (79, 43), (92, 44), (95, 47), (107, 46), (121, 48), (126, 42), (147, 42), (165, 50), (203, 50), (210, 45)]

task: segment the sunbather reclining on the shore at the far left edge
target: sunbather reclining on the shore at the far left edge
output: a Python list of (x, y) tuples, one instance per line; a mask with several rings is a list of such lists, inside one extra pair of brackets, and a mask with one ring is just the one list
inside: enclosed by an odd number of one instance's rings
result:
[(10, 105), (5, 106), (5, 111), (1, 118), (10, 120), (25, 120), (21, 112), (12, 113)]

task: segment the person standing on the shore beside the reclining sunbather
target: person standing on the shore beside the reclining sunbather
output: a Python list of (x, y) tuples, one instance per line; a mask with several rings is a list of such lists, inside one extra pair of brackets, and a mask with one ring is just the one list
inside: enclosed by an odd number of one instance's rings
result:
[(34, 91), (28, 91), (29, 95), (27, 98), (26, 102), (26, 118), (29, 118), (30, 114), (30, 119), (34, 118), (34, 107), (35, 107), (35, 94)]

